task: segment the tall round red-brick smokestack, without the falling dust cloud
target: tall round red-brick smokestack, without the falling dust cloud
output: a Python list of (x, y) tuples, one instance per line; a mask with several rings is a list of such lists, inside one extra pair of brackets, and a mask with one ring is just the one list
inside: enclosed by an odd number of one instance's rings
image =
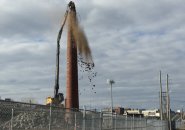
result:
[(68, 6), (69, 17), (67, 34), (67, 82), (65, 107), (69, 109), (79, 109), (77, 43), (75, 43), (72, 33), (72, 22), (74, 22), (73, 20), (76, 20), (76, 9), (75, 4), (72, 1)]

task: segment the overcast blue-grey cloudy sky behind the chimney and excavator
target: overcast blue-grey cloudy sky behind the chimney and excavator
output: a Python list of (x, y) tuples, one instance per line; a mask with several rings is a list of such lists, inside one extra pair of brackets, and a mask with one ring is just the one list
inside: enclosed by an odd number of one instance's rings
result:
[[(169, 74), (170, 104), (185, 103), (184, 0), (74, 0), (97, 76), (79, 71), (80, 107), (159, 108)], [(56, 38), (69, 0), (0, 0), (0, 96), (53, 96)], [(61, 38), (60, 92), (66, 87), (66, 31)], [(81, 68), (79, 67), (79, 70)], [(82, 69), (83, 70), (83, 69)], [(96, 87), (93, 87), (95, 85)]]

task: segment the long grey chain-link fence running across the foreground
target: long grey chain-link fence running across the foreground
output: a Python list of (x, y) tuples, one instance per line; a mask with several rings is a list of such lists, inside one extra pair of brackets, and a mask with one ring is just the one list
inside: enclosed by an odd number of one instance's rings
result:
[(166, 121), (0, 101), (0, 130), (168, 130)]

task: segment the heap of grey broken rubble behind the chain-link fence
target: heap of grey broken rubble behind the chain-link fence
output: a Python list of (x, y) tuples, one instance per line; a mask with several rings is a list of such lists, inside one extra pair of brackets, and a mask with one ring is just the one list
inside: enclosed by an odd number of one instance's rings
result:
[[(65, 126), (64, 115), (53, 115), (50, 118), (49, 112), (22, 112), (15, 116), (12, 120), (5, 122), (0, 126), (1, 130), (9, 130), (12, 123), (12, 128), (15, 130), (44, 130), (49, 128), (49, 124), (55, 128), (63, 128)], [(51, 120), (50, 120), (51, 119)]]

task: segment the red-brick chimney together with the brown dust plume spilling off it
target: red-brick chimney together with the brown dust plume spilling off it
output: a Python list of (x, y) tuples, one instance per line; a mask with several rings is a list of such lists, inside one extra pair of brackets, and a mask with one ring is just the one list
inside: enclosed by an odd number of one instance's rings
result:
[(78, 25), (76, 8), (74, 2), (72, 1), (68, 4), (67, 17), (67, 82), (65, 107), (69, 109), (79, 109), (77, 52), (83, 57), (86, 65), (89, 66), (93, 63), (93, 61), (88, 40), (81, 27)]

